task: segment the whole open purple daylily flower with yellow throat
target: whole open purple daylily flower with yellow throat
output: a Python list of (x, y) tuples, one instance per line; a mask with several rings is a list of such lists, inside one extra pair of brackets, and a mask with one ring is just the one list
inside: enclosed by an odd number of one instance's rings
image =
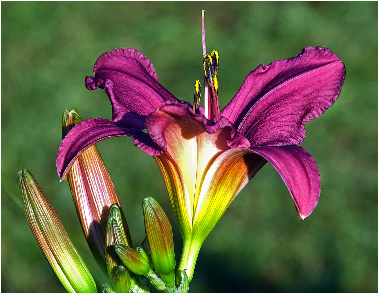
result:
[[(214, 62), (215, 54), (205, 56), (209, 60), (204, 59), (204, 66)], [(76, 125), (57, 158), (58, 174), (66, 179), (80, 153), (106, 138), (130, 136), (154, 156), (183, 236), (179, 270), (187, 269), (189, 281), (202, 242), (267, 161), (287, 185), (298, 216), (304, 219), (313, 211), (320, 195), (319, 172), (298, 144), (305, 138), (304, 124), (335, 102), (345, 78), (337, 55), (307, 47), (293, 58), (252, 70), (218, 114), (216, 72), (208, 69), (212, 78), (205, 84), (204, 111), (161, 86), (141, 52), (117, 48), (104, 53), (86, 87), (105, 89), (112, 120), (87, 119)]]

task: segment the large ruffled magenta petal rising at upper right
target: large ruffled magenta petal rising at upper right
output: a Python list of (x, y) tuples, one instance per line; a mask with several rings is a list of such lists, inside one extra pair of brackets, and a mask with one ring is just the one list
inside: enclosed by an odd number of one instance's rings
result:
[(293, 58), (252, 70), (221, 115), (252, 146), (300, 144), (304, 124), (335, 102), (344, 79), (345, 66), (337, 55), (307, 47)]

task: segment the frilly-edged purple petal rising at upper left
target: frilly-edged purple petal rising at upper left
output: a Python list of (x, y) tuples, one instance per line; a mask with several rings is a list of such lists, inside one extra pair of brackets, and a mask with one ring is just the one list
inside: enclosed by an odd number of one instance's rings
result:
[(95, 77), (86, 77), (89, 90), (105, 89), (112, 103), (112, 118), (124, 127), (144, 129), (145, 117), (166, 100), (177, 100), (160, 83), (153, 64), (141, 52), (117, 48), (101, 55)]

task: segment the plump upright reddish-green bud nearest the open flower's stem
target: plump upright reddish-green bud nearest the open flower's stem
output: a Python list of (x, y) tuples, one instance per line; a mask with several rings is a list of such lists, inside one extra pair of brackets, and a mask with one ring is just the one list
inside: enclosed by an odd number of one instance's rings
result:
[(142, 200), (145, 231), (155, 269), (166, 285), (174, 283), (174, 238), (171, 224), (159, 203), (152, 197)]

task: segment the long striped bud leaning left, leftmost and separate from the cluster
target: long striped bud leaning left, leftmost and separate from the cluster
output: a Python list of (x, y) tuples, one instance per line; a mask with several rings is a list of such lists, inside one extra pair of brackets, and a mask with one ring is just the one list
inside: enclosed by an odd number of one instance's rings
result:
[(64, 288), (70, 293), (96, 292), (91, 273), (29, 170), (19, 171), (19, 183), (30, 229)]

